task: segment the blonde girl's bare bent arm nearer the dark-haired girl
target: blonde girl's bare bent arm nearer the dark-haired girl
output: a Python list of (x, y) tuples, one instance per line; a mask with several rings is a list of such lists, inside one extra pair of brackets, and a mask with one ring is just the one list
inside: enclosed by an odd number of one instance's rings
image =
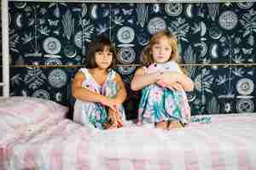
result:
[(158, 82), (160, 77), (160, 72), (155, 72), (152, 74), (147, 74), (143, 67), (137, 69), (134, 77), (131, 81), (131, 89), (134, 91), (140, 90), (149, 84)]

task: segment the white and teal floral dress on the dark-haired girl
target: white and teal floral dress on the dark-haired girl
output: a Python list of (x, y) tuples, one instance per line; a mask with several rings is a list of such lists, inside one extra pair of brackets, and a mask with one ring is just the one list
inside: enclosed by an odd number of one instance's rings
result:
[[(116, 72), (109, 70), (106, 82), (100, 86), (95, 79), (90, 75), (90, 72), (86, 68), (82, 68), (81, 71), (84, 74), (85, 80), (82, 82), (82, 87), (87, 88), (90, 91), (102, 94), (108, 97), (114, 97), (119, 91), (119, 85), (113, 81)], [(119, 106), (119, 116), (123, 118), (125, 116), (125, 110), (122, 105)], [(79, 122), (85, 127), (90, 128), (105, 128), (105, 122), (108, 121), (107, 107), (101, 103), (87, 102), (76, 99), (74, 105), (74, 122)]]

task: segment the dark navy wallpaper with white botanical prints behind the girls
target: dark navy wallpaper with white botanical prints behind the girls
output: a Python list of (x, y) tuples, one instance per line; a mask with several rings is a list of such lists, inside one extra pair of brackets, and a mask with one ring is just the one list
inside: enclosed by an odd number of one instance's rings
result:
[[(150, 37), (167, 29), (195, 90), (192, 114), (255, 111), (255, 3), (9, 3), (11, 95), (73, 105), (71, 82), (86, 65), (89, 42), (106, 34), (119, 57), (116, 68), (129, 97), (127, 118), (137, 115), (139, 92), (131, 78)], [(34, 65), (34, 66), (33, 66)]]

